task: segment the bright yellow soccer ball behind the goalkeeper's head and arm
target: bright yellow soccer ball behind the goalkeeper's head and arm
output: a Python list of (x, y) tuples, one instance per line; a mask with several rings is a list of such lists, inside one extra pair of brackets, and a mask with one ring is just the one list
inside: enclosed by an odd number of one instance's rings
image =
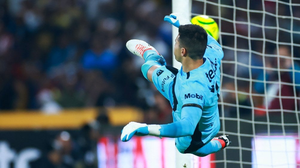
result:
[(214, 39), (218, 40), (219, 38), (219, 27), (214, 19), (206, 15), (198, 15), (193, 17), (190, 22), (192, 24), (197, 24), (203, 27), (206, 32), (211, 35)]

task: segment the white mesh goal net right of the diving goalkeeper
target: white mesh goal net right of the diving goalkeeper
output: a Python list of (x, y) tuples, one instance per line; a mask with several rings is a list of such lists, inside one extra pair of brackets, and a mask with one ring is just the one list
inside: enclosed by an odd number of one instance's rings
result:
[[(173, 12), (208, 15), (219, 25), (224, 51), (219, 134), (228, 134), (232, 144), (209, 162), (300, 167), (300, 2), (173, 0), (172, 5)], [(173, 38), (177, 33), (173, 27)]]

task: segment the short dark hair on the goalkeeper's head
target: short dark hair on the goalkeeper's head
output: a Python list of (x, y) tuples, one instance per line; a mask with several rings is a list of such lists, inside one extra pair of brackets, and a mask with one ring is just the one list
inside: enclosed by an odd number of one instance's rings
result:
[(202, 59), (207, 45), (207, 33), (198, 25), (179, 26), (179, 47), (185, 48), (192, 59)]

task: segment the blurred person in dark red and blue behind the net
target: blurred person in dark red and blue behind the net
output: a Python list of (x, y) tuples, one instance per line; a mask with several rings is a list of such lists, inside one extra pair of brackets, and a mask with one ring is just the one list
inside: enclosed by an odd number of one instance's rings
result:
[[(292, 60), (291, 51), (288, 46), (280, 45), (278, 50), (274, 51), (274, 56), (265, 60), (265, 76), (260, 73), (254, 88), (257, 93), (266, 94), (262, 108), (280, 112), (291, 110), (297, 107), (295, 97), (300, 91), (300, 66)], [(277, 56), (279, 59), (277, 59)], [(263, 81), (266, 81), (266, 88)], [(296, 84), (297, 86), (294, 86)], [(278, 97), (279, 96), (279, 97)], [(281, 98), (284, 97), (284, 98)]]

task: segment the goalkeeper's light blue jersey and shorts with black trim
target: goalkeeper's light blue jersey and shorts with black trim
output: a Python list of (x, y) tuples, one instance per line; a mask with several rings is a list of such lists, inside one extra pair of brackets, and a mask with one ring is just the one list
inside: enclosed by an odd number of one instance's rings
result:
[[(220, 95), (220, 62), (223, 51), (220, 44), (208, 35), (203, 64), (188, 73), (172, 67), (157, 68), (152, 80), (173, 107), (173, 121), (181, 120), (183, 107), (199, 107), (202, 116), (192, 136), (176, 138), (179, 152), (189, 153), (208, 143), (220, 130), (218, 97)], [(189, 129), (189, 128), (187, 128)]]

